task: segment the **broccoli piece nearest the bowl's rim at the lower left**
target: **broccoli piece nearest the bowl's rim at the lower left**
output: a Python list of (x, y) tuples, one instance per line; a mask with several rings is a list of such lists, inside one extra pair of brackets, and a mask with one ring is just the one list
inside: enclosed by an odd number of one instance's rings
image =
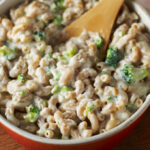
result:
[(24, 116), (24, 119), (27, 121), (34, 123), (39, 118), (40, 110), (37, 107), (31, 107), (27, 114)]

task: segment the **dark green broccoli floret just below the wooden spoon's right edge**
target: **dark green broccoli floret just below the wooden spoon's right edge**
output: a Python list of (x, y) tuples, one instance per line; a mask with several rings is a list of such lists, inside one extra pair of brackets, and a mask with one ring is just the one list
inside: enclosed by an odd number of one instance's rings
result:
[(111, 47), (107, 50), (105, 64), (107, 66), (117, 67), (119, 61), (123, 58), (123, 54), (116, 47)]

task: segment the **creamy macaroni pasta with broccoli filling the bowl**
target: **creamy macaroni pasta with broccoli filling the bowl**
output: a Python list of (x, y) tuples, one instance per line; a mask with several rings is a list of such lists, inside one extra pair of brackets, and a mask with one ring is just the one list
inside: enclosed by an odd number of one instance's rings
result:
[(150, 38), (136, 13), (124, 5), (105, 60), (99, 33), (62, 41), (63, 28), (94, 5), (36, 0), (1, 18), (0, 111), (8, 121), (50, 139), (79, 139), (141, 107), (150, 91)]

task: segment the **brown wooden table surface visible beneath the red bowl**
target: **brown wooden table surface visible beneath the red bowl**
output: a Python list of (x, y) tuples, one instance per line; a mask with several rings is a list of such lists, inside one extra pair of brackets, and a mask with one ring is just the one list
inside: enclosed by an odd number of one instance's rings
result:
[[(0, 127), (0, 150), (25, 150)], [(150, 109), (133, 133), (114, 150), (150, 150)]]

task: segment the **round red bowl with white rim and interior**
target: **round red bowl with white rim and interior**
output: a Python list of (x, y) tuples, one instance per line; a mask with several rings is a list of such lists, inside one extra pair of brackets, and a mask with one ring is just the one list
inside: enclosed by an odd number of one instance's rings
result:
[[(0, 14), (3, 14), (10, 7), (17, 5), (23, 0), (1, 0)], [(146, 25), (150, 31), (150, 14), (139, 4), (134, 1), (126, 0), (128, 6), (136, 11), (141, 17), (141, 21)], [(150, 106), (150, 95), (147, 96), (144, 104), (125, 122), (113, 128), (109, 132), (90, 137), (88, 139), (76, 140), (57, 140), (46, 139), (33, 135), (29, 132), (21, 130), (8, 122), (2, 115), (0, 115), (0, 124), (4, 129), (16, 140), (19, 144), (28, 150), (108, 150), (118, 145), (123, 141), (139, 123), (144, 112)]]

